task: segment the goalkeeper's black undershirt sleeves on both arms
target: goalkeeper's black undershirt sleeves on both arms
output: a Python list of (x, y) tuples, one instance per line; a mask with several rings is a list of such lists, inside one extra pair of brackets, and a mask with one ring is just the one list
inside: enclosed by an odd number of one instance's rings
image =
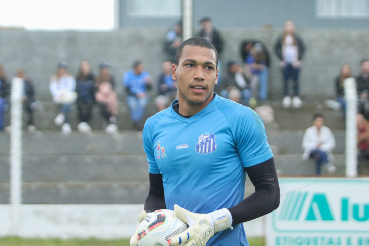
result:
[[(245, 170), (255, 186), (255, 192), (236, 206), (228, 208), (233, 219), (232, 225), (266, 215), (279, 206), (280, 191), (274, 159), (247, 167)], [(162, 175), (149, 173), (149, 182), (149, 195), (144, 209), (146, 212), (166, 209)]]

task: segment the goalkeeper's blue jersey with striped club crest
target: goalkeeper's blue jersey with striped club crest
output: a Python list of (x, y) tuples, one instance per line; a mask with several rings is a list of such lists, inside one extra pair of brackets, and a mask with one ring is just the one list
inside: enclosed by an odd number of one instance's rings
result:
[[(250, 108), (215, 95), (185, 118), (172, 107), (146, 121), (149, 172), (163, 175), (167, 209), (195, 213), (230, 208), (244, 199), (245, 167), (273, 157), (263, 121)], [(216, 233), (208, 246), (248, 245), (242, 224)]]

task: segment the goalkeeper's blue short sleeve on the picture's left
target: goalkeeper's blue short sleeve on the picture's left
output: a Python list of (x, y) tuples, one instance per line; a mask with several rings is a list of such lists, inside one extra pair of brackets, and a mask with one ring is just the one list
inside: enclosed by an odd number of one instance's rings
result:
[(155, 156), (153, 152), (152, 136), (155, 125), (150, 119), (148, 119), (143, 128), (143, 149), (146, 152), (147, 162), (149, 162), (149, 172), (152, 174), (160, 174), (160, 170), (155, 161)]

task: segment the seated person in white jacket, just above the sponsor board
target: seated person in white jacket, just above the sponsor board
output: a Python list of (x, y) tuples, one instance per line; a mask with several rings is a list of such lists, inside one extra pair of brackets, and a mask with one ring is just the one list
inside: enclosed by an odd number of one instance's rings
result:
[(335, 137), (331, 130), (324, 126), (323, 116), (319, 113), (313, 116), (313, 126), (306, 129), (302, 147), (304, 149), (303, 160), (315, 160), (315, 174), (321, 174), (321, 165), (327, 165), (328, 173), (335, 173), (336, 167), (333, 161), (332, 150), (335, 147)]

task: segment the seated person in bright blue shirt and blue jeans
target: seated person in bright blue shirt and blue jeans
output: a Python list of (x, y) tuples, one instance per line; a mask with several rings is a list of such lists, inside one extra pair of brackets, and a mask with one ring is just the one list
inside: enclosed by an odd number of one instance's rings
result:
[(131, 111), (133, 127), (141, 130), (143, 129), (141, 123), (145, 107), (149, 102), (147, 89), (151, 89), (150, 74), (143, 71), (142, 62), (136, 61), (133, 64), (133, 69), (124, 74), (122, 83), (128, 93), (127, 102)]

